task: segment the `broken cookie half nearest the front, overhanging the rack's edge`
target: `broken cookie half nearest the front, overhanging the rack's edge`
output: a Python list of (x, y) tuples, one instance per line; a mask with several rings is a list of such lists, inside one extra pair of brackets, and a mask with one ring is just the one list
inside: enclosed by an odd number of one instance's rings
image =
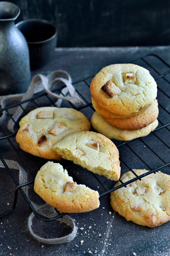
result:
[(78, 185), (62, 165), (50, 161), (37, 172), (34, 191), (59, 212), (89, 212), (100, 205), (98, 191)]

